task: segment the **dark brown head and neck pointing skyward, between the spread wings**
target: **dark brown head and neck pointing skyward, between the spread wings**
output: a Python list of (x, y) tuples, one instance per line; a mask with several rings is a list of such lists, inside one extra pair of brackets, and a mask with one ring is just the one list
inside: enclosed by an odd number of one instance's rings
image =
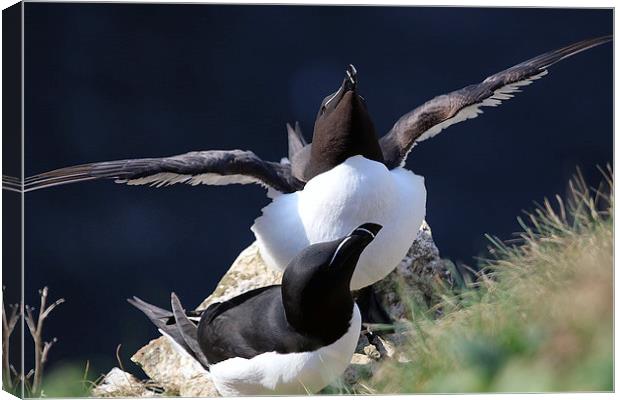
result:
[(325, 172), (355, 155), (383, 162), (377, 133), (358, 86), (357, 70), (349, 65), (338, 90), (321, 103), (314, 123), (308, 176)]

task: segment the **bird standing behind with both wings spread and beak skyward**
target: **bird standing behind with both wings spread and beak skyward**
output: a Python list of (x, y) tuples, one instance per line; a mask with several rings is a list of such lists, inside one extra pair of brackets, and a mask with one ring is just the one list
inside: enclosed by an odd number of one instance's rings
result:
[[(306, 143), (299, 125), (287, 125), (287, 160), (264, 161), (251, 151), (210, 150), (97, 162), (32, 176), (24, 189), (104, 178), (157, 187), (258, 183), (269, 188), (273, 201), (251, 229), (262, 257), (274, 269), (283, 270), (309, 244), (333, 240), (364, 221), (384, 225), (351, 280), (351, 289), (365, 288), (398, 265), (425, 216), (424, 179), (404, 168), (411, 149), (452, 124), (477, 117), (482, 107), (511, 98), (546, 75), (554, 63), (610, 40), (605, 36), (550, 51), (435, 97), (402, 116), (380, 139), (358, 93), (357, 71), (350, 65), (340, 88), (321, 103), (312, 143)], [(365, 291), (370, 299), (364, 301), (369, 304), (365, 320), (386, 322), (372, 295)]]

